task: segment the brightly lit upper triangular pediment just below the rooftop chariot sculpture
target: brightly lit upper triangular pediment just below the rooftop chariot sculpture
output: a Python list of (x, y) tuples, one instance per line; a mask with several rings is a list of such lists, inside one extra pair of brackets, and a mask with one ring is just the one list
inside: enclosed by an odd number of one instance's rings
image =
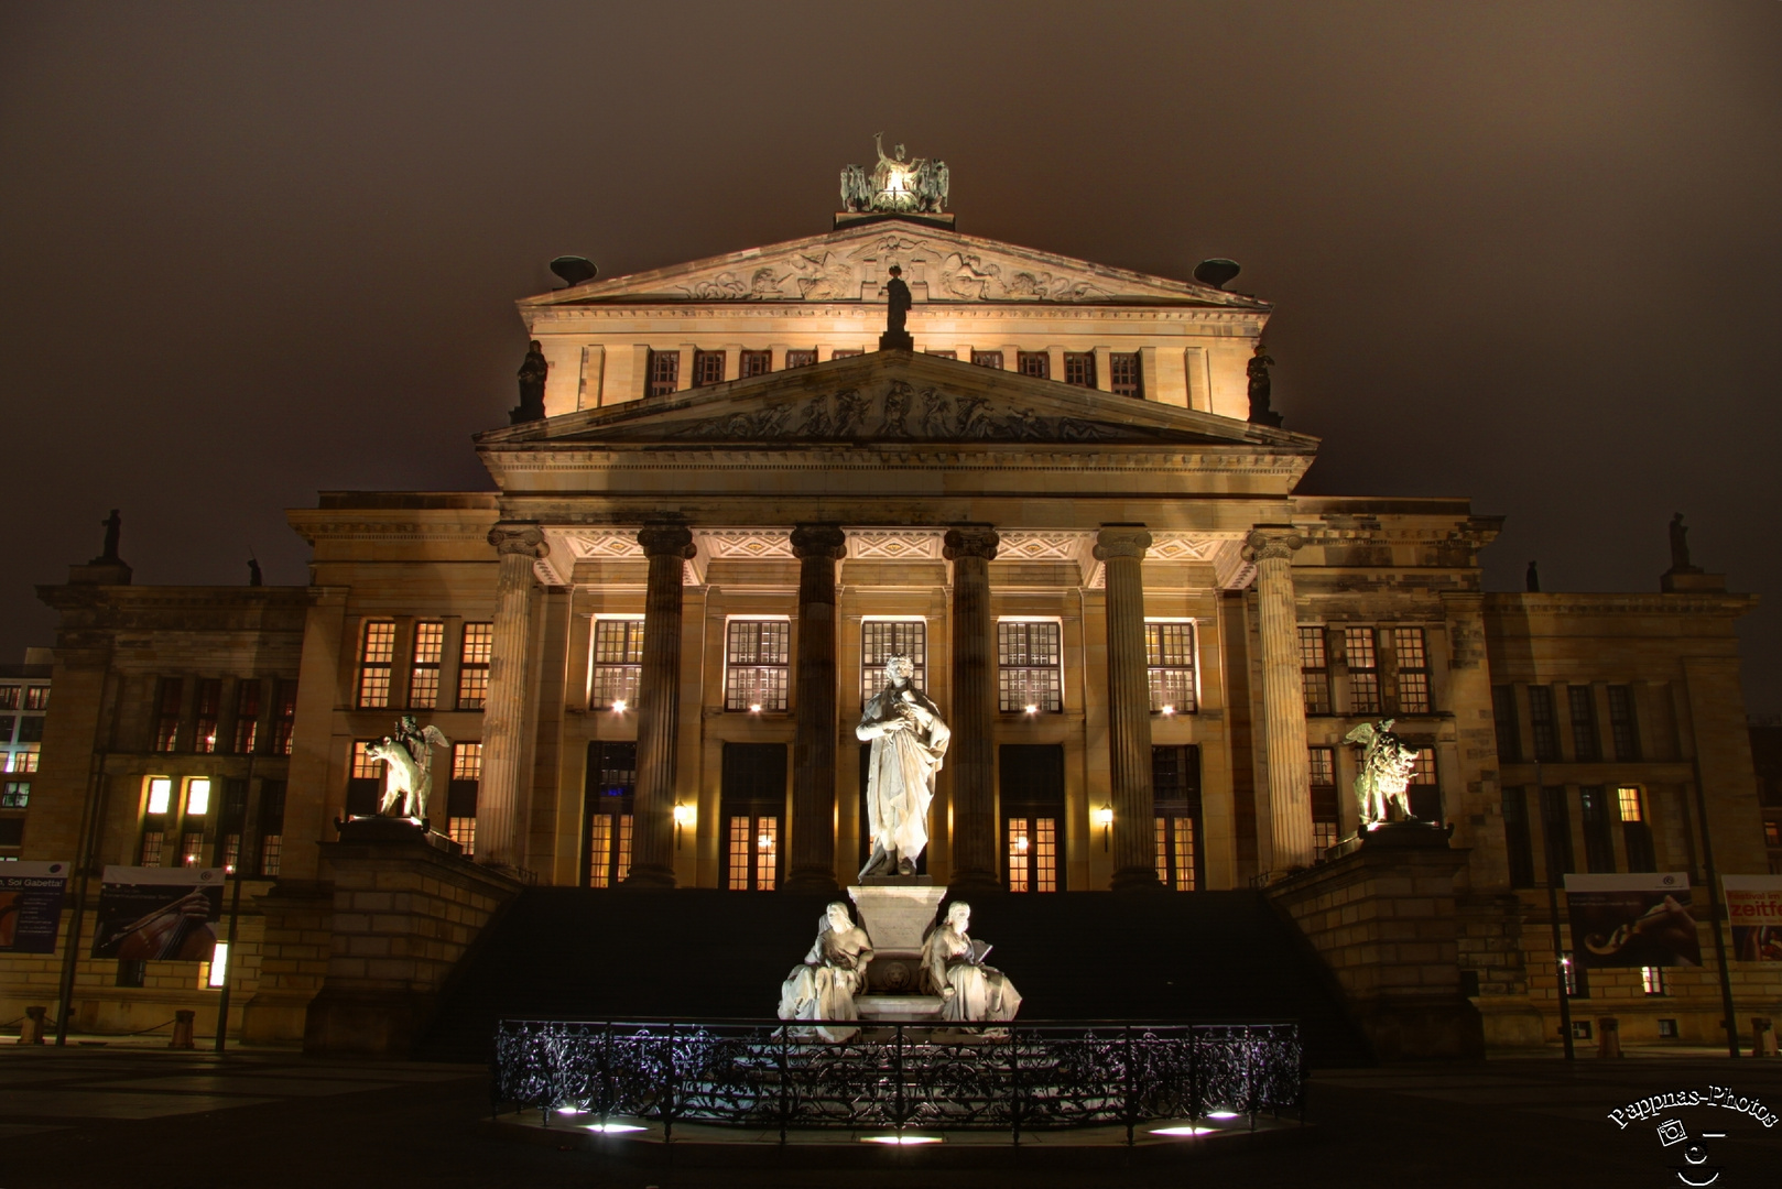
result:
[(1035, 248), (886, 219), (706, 260), (593, 280), (520, 301), (560, 305), (709, 301), (880, 301), (886, 269), (903, 269), (918, 303), (1187, 305), (1267, 310), (1198, 282), (1151, 276)]

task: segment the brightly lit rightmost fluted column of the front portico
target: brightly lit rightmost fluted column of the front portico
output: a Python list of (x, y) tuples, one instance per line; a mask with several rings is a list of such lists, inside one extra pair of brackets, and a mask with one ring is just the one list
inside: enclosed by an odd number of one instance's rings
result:
[(1256, 563), (1262, 619), (1262, 734), (1269, 745), (1269, 825), (1274, 872), (1312, 866), (1312, 770), (1306, 759), (1306, 693), (1299, 674), (1299, 615), (1294, 611), (1294, 551), (1304, 542), (1290, 524), (1258, 524), (1244, 556)]

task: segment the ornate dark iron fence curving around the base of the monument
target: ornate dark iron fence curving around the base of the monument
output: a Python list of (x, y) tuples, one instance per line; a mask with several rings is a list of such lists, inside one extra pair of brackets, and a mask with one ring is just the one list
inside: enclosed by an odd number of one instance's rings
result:
[[(850, 1021), (852, 1023), (852, 1021)], [(850, 1027), (850, 1025), (841, 1025)], [(1303, 1105), (1294, 1023), (868, 1025), (503, 1020), (494, 1112), (779, 1128), (1023, 1130), (1279, 1114)]]

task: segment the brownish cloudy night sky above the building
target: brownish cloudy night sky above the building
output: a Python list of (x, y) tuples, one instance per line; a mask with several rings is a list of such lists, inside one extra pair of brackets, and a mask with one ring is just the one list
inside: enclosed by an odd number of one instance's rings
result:
[(137, 583), (307, 579), (317, 488), (486, 488), (513, 299), (825, 232), (884, 130), (960, 230), (1276, 303), (1304, 490), (1470, 496), (1495, 590), (1768, 604), (1782, 4), (0, 9), (0, 661), (123, 508)]

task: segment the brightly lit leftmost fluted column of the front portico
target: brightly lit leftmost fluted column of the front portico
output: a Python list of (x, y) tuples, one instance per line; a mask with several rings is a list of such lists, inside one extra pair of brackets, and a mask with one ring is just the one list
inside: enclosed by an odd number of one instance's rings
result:
[(476, 791), (476, 859), (519, 870), (520, 761), (526, 754), (526, 651), (531, 644), (533, 562), (551, 553), (536, 524), (504, 521), (488, 529), (495, 572), (495, 638), (483, 699), (483, 783)]

